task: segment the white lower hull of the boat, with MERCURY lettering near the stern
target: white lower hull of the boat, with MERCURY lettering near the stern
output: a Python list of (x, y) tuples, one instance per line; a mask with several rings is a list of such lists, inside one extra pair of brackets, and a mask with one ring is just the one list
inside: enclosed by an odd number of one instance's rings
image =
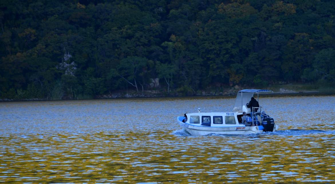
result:
[[(230, 134), (230, 135), (245, 135), (251, 133), (261, 133), (264, 131), (263, 126), (229, 126), (229, 127), (211, 127), (211, 126), (199, 126), (190, 123), (184, 123), (178, 119), (178, 123), (183, 129), (194, 136), (208, 135), (211, 133), (215, 134)], [(275, 125), (273, 131), (276, 131), (278, 127)]]

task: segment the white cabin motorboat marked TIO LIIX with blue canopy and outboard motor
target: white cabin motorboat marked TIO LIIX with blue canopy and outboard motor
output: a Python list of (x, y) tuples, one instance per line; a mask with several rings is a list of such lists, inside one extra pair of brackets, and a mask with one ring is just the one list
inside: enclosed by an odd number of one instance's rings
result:
[[(255, 108), (251, 111), (247, 107), (247, 103), (255, 93), (259, 102), (259, 93), (269, 92), (273, 91), (244, 89), (238, 92), (232, 112), (200, 112), (200, 108), (198, 108), (197, 113), (186, 113), (184, 116), (178, 116), (177, 121), (183, 129), (194, 136), (211, 133), (250, 134), (276, 131), (278, 126), (274, 123), (273, 118), (265, 114), (264, 108), (261, 105), (258, 107), (258, 112), (255, 111)], [(250, 125), (242, 123), (243, 112), (252, 116), (252, 123)]]

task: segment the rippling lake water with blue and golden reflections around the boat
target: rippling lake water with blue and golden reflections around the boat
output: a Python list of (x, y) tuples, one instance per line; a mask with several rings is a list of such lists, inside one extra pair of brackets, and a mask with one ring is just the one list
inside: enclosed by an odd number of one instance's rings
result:
[(335, 182), (335, 96), (260, 99), (279, 131), (191, 136), (235, 98), (0, 103), (0, 182)]

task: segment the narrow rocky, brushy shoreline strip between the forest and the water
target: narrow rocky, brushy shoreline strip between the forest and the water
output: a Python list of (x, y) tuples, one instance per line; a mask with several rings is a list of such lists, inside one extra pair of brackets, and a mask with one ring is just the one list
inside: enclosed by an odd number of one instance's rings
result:
[(175, 98), (175, 97), (186, 97), (186, 98), (198, 98), (198, 97), (224, 97), (224, 98), (235, 98), (239, 90), (242, 89), (269, 89), (273, 93), (264, 93), (260, 96), (324, 96), (324, 95), (335, 95), (335, 88), (315, 88), (315, 86), (306, 84), (295, 84), (295, 85), (277, 85), (265, 88), (257, 87), (225, 87), (218, 89), (208, 89), (203, 91), (197, 91), (196, 94), (187, 95), (179, 93), (177, 91), (170, 91), (167, 93), (162, 90), (144, 90), (143, 92), (136, 92), (135, 90), (128, 91), (116, 91), (114, 93), (105, 94), (92, 97), (82, 97), (76, 99), (0, 99), (0, 102), (15, 102), (15, 101), (58, 101), (58, 100), (96, 100), (96, 99), (132, 99), (132, 98)]

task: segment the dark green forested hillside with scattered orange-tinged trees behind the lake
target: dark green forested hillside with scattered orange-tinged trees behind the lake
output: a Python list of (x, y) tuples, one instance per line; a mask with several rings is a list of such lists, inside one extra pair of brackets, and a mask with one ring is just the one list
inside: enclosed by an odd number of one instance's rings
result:
[(1, 0), (0, 98), (334, 85), (334, 15), (333, 0)]

